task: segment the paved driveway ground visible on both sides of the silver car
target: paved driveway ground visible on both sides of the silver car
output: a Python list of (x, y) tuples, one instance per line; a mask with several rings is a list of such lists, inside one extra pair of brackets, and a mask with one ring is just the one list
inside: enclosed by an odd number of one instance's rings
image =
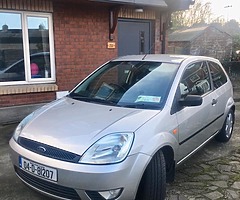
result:
[[(16, 125), (0, 126), (0, 200), (50, 200), (26, 187), (15, 175), (8, 141)], [(168, 200), (240, 199), (240, 104), (233, 138), (211, 141), (180, 166), (167, 186)]]

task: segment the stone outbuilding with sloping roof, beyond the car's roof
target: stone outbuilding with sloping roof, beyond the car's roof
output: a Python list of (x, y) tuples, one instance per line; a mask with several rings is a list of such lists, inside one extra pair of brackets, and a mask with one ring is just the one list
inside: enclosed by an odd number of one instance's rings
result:
[(210, 56), (221, 61), (232, 56), (232, 37), (214, 25), (193, 26), (169, 34), (168, 53)]

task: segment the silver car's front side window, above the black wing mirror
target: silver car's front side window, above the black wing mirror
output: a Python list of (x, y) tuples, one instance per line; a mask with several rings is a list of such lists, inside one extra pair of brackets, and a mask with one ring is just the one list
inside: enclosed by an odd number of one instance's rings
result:
[(180, 81), (181, 97), (188, 94), (203, 95), (211, 90), (211, 81), (206, 62), (189, 65)]

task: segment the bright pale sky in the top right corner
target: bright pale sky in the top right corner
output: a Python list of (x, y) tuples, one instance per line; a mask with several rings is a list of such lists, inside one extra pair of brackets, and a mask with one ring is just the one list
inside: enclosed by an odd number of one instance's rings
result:
[(235, 19), (240, 22), (240, 0), (201, 0), (210, 2), (214, 17), (223, 16), (227, 21)]

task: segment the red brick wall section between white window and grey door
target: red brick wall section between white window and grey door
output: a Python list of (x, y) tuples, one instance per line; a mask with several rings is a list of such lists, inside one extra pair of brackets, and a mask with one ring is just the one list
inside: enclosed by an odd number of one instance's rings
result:
[[(101, 5), (101, 4), (100, 4)], [(69, 90), (98, 65), (117, 56), (107, 49), (108, 8), (54, 4), (56, 77), (59, 90)], [(117, 43), (117, 35), (114, 36)]]

